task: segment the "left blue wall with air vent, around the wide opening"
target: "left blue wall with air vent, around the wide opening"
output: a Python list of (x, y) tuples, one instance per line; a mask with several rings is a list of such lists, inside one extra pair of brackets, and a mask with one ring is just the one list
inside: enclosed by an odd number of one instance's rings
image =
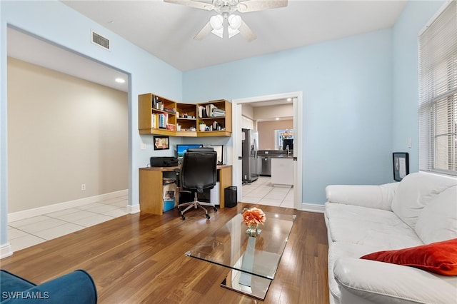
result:
[[(182, 72), (138, 46), (82, 16), (60, 1), (0, 1), (0, 245), (7, 243), (7, 139), (6, 139), (6, 26), (39, 36), (129, 74), (129, 205), (139, 206), (138, 168), (149, 163), (154, 153), (151, 136), (138, 132), (138, 95), (154, 92), (182, 100)], [(91, 29), (111, 41), (111, 51), (91, 44)], [(160, 71), (160, 73), (151, 73)], [(141, 142), (147, 143), (141, 150)], [(172, 153), (171, 151), (169, 153)]]

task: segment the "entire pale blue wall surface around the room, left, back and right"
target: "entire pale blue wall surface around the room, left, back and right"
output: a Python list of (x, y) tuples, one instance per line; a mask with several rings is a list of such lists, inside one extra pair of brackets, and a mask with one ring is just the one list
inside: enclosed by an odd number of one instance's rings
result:
[[(393, 29), (183, 74), (59, 1), (0, 1), (0, 245), (7, 243), (7, 24), (130, 75), (132, 206), (138, 205), (137, 170), (153, 151), (137, 131), (136, 96), (151, 91), (189, 102), (303, 91), (302, 201), (321, 204), (331, 183), (392, 181), (392, 151), (410, 152), (411, 171), (418, 170), (416, 39), (442, 3), (409, 1)], [(114, 49), (91, 44), (91, 29), (108, 36)]]

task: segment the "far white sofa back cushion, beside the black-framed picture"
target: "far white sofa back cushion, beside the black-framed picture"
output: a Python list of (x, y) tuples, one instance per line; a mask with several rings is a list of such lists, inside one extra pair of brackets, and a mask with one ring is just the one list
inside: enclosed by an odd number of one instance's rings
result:
[(408, 174), (398, 185), (392, 201), (392, 211), (414, 228), (423, 208), (438, 194), (456, 185), (456, 178), (432, 173)]

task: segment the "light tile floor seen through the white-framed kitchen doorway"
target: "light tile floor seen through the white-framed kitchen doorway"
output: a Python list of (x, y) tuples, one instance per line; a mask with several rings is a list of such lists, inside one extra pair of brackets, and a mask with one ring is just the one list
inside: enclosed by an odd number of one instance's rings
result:
[(293, 188), (273, 187), (271, 178), (260, 176), (257, 181), (243, 185), (243, 203), (294, 208)]

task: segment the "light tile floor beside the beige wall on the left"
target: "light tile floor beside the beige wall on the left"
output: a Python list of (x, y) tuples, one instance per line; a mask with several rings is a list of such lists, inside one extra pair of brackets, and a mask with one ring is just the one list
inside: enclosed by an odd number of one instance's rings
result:
[(127, 202), (127, 196), (119, 196), (8, 223), (11, 248), (14, 252), (124, 216)]

